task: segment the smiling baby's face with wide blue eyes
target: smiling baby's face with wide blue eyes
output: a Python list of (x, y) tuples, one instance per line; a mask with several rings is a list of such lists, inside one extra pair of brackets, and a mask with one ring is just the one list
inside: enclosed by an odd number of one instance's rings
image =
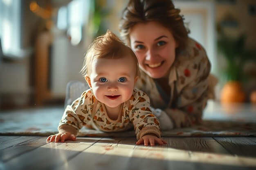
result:
[(90, 83), (94, 96), (108, 107), (117, 107), (132, 96), (137, 81), (132, 57), (94, 59)]

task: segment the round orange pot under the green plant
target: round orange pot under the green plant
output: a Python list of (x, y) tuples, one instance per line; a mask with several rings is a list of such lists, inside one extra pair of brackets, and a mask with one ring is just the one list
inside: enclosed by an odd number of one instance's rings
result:
[(228, 81), (222, 88), (220, 101), (224, 103), (245, 102), (245, 92), (238, 81)]

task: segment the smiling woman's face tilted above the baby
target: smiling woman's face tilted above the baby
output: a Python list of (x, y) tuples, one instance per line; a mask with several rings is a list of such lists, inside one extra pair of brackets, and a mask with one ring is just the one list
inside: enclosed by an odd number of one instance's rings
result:
[(130, 30), (130, 46), (148, 76), (168, 77), (178, 46), (170, 30), (157, 22), (138, 23)]

